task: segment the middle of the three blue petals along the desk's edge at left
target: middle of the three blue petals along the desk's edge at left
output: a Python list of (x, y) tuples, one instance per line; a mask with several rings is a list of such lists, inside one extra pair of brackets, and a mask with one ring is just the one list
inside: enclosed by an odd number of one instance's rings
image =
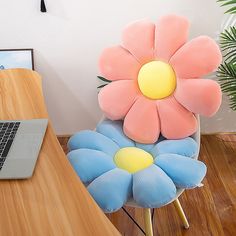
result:
[(112, 157), (91, 149), (77, 149), (68, 153), (68, 159), (83, 183), (90, 183), (116, 166)]

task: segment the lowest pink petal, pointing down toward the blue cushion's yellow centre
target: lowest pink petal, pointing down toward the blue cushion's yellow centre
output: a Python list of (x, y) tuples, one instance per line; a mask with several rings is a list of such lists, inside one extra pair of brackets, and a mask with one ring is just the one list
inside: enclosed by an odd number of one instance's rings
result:
[(140, 143), (154, 143), (160, 134), (155, 101), (139, 97), (125, 117), (124, 133)]

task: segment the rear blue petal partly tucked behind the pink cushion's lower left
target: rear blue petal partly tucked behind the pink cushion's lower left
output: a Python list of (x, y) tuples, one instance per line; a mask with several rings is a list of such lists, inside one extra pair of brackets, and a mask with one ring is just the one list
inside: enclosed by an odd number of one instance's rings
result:
[(134, 147), (134, 142), (123, 132), (122, 121), (104, 120), (98, 124), (96, 130), (113, 140), (121, 148)]

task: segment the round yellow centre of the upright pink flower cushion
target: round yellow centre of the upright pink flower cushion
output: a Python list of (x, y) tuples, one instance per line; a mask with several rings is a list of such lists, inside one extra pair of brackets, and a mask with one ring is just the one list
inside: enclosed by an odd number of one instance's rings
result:
[(165, 62), (148, 62), (139, 71), (138, 85), (143, 95), (148, 98), (162, 99), (168, 97), (176, 87), (175, 72)]

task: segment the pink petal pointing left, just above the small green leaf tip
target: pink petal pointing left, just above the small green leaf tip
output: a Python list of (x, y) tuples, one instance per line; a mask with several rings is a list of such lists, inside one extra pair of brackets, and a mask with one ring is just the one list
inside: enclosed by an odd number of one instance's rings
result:
[(136, 79), (141, 65), (121, 46), (106, 48), (100, 57), (99, 68), (108, 80)]

